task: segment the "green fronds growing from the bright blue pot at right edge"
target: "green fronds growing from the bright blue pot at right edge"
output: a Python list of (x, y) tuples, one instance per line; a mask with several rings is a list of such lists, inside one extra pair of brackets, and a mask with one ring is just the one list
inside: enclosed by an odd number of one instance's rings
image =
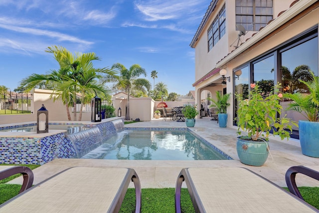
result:
[(289, 104), (287, 110), (302, 113), (308, 121), (319, 122), (319, 77), (315, 76), (313, 72), (310, 73), (312, 77), (310, 81), (306, 82), (299, 79), (300, 82), (307, 86), (307, 94), (300, 92), (294, 94), (285, 93), (283, 97), (294, 101)]

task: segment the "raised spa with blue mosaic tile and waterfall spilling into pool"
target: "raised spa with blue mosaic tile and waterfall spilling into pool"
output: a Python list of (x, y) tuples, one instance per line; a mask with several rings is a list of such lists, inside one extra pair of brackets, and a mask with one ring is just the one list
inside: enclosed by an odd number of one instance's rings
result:
[[(50, 122), (54, 127), (49, 133), (37, 134), (35, 123), (19, 123), (0, 126), (1, 164), (39, 164), (43, 165), (56, 158), (81, 158), (101, 146), (102, 142), (124, 128), (122, 118), (114, 117), (102, 122)], [(55, 127), (62, 125), (63, 130)], [(75, 125), (75, 126), (74, 126)], [(28, 128), (35, 127), (28, 132)], [(72, 126), (68, 128), (67, 126)], [(79, 126), (83, 126), (80, 128)], [(27, 128), (16, 132), (16, 128)], [(66, 133), (65, 128), (68, 130)], [(14, 132), (7, 132), (12, 130)], [(70, 131), (69, 131), (70, 130)]]

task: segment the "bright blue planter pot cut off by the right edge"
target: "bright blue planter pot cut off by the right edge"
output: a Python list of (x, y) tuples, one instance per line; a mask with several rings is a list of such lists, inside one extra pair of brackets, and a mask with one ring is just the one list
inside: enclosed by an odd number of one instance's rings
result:
[(299, 121), (299, 140), (304, 155), (319, 158), (319, 122)]

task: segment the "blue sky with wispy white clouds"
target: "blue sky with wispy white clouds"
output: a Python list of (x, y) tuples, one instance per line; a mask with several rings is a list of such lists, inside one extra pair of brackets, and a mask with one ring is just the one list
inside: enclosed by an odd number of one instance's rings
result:
[(48, 46), (95, 52), (95, 67), (140, 64), (153, 86), (186, 95), (195, 81), (189, 46), (210, 0), (0, 0), (0, 85), (58, 69)]

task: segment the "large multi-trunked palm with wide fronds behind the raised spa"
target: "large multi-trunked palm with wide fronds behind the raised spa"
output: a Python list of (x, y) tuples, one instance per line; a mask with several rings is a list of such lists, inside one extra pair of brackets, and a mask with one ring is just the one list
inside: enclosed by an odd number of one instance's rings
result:
[[(105, 68), (93, 68), (92, 60), (99, 60), (94, 52), (77, 53), (73, 55), (66, 48), (60, 46), (48, 47), (46, 52), (54, 54), (54, 58), (60, 65), (59, 71), (51, 70), (49, 74), (32, 74), (23, 79), (20, 83), (20, 88), (29, 91), (37, 84), (46, 81), (54, 82), (56, 85), (56, 99), (62, 99), (66, 106), (68, 120), (71, 120), (69, 107), (74, 106), (74, 121), (76, 121), (76, 97), (81, 95), (81, 107), (79, 121), (82, 119), (83, 104), (88, 103), (94, 94), (99, 94), (101, 98), (108, 98), (110, 91), (97, 82), (101, 79), (101, 74), (112, 75), (116, 78), (116, 71)], [(51, 97), (53, 96), (53, 93)]]

